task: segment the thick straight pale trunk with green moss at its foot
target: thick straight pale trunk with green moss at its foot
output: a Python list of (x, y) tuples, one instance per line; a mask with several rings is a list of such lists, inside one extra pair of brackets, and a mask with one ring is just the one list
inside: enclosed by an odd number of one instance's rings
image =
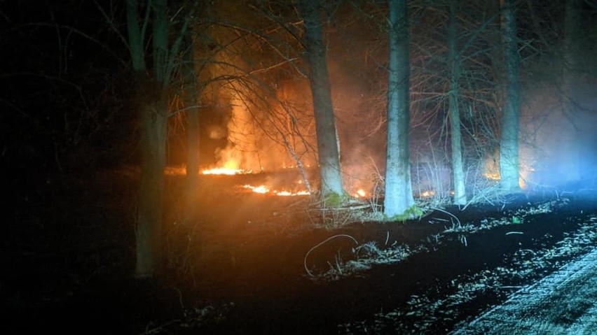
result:
[(390, 79), (384, 213), (403, 215), (415, 201), (409, 160), (409, 22), (406, 0), (390, 0)]

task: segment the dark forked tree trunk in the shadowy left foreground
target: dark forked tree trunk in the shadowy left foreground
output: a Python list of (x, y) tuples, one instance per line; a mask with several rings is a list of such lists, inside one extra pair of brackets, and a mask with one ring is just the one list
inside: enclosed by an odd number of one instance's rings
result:
[[(145, 10), (142, 22), (139, 20), (141, 9)], [(168, 117), (167, 88), (170, 86), (174, 59), (179, 52), (191, 12), (192, 10), (182, 24), (180, 35), (170, 45), (170, 20), (167, 17), (166, 0), (153, 0), (151, 6), (146, 5), (145, 8), (139, 6), (137, 0), (126, 2), (128, 46), (141, 122), (142, 173), (135, 229), (137, 241), (135, 276), (137, 278), (153, 277), (160, 269)], [(151, 71), (145, 62), (144, 48), (150, 13), (153, 14)], [(147, 76), (148, 73), (151, 73), (151, 76)]]

